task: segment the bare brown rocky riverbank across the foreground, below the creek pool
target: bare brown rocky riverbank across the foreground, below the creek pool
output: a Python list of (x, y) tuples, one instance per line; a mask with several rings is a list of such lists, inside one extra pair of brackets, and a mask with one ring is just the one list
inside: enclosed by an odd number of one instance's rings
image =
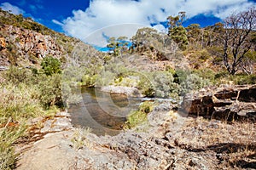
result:
[[(256, 167), (254, 122), (184, 117), (172, 108), (169, 102), (162, 102), (148, 114), (147, 124), (113, 137), (98, 137), (86, 129), (73, 128), (67, 123), (68, 115), (56, 116), (41, 128), (52, 133), (45, 133), (44, 139), (22, 152), (17, 169)], [(57, 123), (62, 118), (65, 123)], [(68, 128), (64, 126), (64, 131), (58, 132), (58, 126), (64, 124)]]

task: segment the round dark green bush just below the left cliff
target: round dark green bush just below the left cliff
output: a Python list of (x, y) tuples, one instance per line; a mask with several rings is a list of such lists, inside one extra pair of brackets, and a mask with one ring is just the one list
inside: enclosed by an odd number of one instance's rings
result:
[(61, 73), (61, 62), (53, 57), (45, 57), (41, 63), (42, 70), (47, 76)]

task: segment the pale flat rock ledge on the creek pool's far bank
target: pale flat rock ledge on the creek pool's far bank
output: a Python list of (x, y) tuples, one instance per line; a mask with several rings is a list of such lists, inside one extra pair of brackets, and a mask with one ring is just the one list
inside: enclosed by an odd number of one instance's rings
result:
[(143, 97), (137, 88), (128, 88), (123, 86), (104, 86), (102, 92), (108, 92), (110, 94), (125, 94), (131, 97)]

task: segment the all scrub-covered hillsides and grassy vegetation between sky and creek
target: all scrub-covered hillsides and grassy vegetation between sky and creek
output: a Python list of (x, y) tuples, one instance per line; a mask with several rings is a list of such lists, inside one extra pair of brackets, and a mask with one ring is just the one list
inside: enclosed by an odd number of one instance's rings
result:
[[(231, 25), (234, 17), (239, 23)], [(44, 120), (79, 103), (74, 86), (125, 86), (146, 97), (179, 101), (210, 85), (256, 83), (255, 8), (205, 28), (185, 28), (184, 18), (184, 12), (168, 17), (167, 34), (139, 29), (131, 47), (125, 37), (112, 37), (109, 53), (102, 53), (0, 10), (0, 66), (5, 70), (0, 72), (0, 169), (15, 168), (14, 145), (29, 141), (33, 118)], [(151, 104), (142, 105), (125, 127), (137, 126), (151, 110)]]

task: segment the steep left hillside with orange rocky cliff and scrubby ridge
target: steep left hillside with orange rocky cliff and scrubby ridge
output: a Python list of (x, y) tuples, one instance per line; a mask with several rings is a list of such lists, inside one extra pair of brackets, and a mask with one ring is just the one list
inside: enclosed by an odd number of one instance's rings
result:
[(96, 52), (77, 38), (0, 9), (0, 66), (37, 66), (46, 56), (66, 60), (78, 43)]

